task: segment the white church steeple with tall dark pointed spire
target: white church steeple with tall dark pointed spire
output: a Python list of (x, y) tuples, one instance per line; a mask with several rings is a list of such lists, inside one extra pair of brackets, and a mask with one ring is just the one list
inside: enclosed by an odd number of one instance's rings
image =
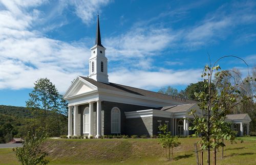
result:
[(105, 48), (101, 44), (99, 15), (97, 17), (97, 29), (95, 45), (91, 48), (91, 57), (89, 59), (89, 78), (99, 82), (109, 83), (108, 59), (105, 57)]

